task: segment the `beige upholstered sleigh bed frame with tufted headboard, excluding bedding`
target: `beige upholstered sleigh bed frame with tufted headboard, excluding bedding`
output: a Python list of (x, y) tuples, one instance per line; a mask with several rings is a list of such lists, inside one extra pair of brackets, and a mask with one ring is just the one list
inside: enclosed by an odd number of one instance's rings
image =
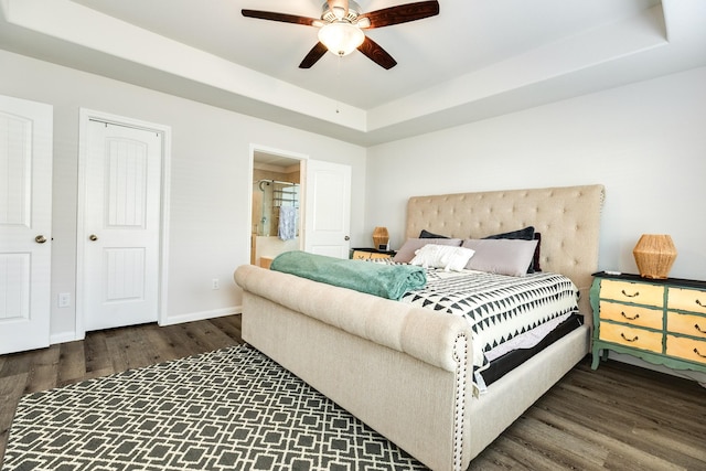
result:
[(242, 266), (243, 339), (434, 470), (467, 469), (589, 350), (602, 185), (415, 196), (406, 238), (483, 238), (533, 226), (543, 272), (568, 277), (582, 325), (478, 394), (473, 331), (445, 315)]

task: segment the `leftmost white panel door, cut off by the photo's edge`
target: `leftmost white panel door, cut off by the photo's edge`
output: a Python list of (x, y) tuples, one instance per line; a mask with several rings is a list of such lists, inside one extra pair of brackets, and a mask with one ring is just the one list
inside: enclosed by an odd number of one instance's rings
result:
[(52, 114), (0, 96), (0, 354), (49, 346)]

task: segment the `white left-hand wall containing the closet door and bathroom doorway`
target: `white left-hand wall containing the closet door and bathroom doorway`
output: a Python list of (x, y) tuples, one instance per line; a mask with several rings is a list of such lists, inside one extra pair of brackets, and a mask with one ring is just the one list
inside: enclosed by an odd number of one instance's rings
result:
[[(365, 149), (146, 88), (0, 51), (0, 94), (54, 107), (52, 339), (74, 338), (75, 303), (58, 292), (76, 279), (78, 110), (81, 107), (170, 126), (171, 320), (234, 312), (240, 303), (233, 270), (249, 263), (252, 143), (352, 165), (352, 243), (361, 240)], [(221, 289), (211, 280), (220, 278)]]

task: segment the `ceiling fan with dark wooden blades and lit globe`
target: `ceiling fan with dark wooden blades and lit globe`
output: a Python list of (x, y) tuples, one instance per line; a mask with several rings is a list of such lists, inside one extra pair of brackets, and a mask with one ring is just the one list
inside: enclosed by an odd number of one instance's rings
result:
[(320, 19), (260, 10), (243, 9), (242, 12), (248, 18), (319, 28), (319, 42), (301, 61), (300, 68), (310, 68), (327, 51), (344, 56), (356, 49), (381, 67), (392, 68), (397, 61), (367, 38), (363, 30), (434, 17), (439, 14), (439, 2), (420, 1), (363, 13), (353, 0), (328, 0), (323, 3)]

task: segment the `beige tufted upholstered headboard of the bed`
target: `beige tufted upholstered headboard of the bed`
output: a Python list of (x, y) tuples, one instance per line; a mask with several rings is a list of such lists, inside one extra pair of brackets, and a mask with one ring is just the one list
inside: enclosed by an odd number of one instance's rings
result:
[(421, 229), (458, 238), (534, 226), (542, 233), (543, 271), (569, 277), (580, 290), (579, 309), (591, 323), (588, 291), (598, 267), (603, 185), (489, 191), (413, 196), (407, 203), (407, 238)]

